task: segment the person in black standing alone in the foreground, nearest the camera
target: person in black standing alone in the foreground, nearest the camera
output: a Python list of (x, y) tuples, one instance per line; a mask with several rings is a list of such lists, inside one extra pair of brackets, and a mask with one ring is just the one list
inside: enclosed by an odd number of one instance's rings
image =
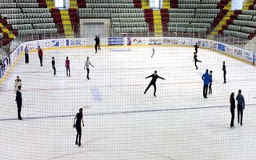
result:
[[(82, 108), (79, 109), (79, 113), (74, 117), (74, 127), (77, 130), (75, 145), (78, 145), (78, 146), (81, 146), (81, 135), (82, 135), (81, 121), (82, 121), (82, 126), (85, 126), (82, 118)], [(79, 137), (79, 141), (78, 141), (78, 137)]]

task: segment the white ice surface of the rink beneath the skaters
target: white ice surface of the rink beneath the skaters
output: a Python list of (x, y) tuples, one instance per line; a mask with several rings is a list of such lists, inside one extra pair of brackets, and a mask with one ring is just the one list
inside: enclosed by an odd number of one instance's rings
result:
[[(44, 50), (22, 56), (0, 86), (0, 159), (255, 160), (256, 68), (211, 50), (157, 46)], [(55, 57), (57, 76), (51, 68)], [(66, 77), (65, 60), (71, 76)], [(86, 57), (90, 81), (86, 80)], [(223, 84), (222, 62), (227, 83)], [(213, 70), (213, 94), (202, 95), (202, 74)], [(143, 94), (158, 70), (154, 88)], [(22, 79), (22, 121), (14, 80)], [(230, 94), (245, 97), (243, 126), (230, 128)], [(237, 104), (237, 102), (236, 102)], [(84, 108), (82, 146), (74, 144), (74, 116)]]

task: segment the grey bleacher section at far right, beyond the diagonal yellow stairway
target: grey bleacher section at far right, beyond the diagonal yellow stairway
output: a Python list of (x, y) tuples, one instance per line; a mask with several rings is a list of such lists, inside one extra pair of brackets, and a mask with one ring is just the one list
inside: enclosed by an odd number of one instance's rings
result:
[[(255, 1), (256, 2), (256, 1)], [(256, 10), (235, 10), (219, 34), (251, 39), (256, 34)]]

